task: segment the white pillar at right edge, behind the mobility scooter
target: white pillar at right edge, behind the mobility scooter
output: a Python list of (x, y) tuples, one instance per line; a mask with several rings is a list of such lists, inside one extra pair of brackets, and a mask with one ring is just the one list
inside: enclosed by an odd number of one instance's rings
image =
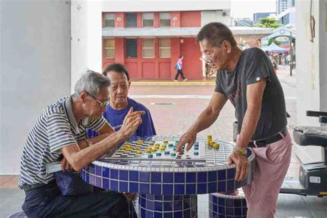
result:
[[(306, 110), (327, 111), (326, 99), (326, 0), (313, 0), (315, 39), (310, 41), (310, 1), (296, 1), (297, 124), (319, 126), (317, 117), (306, 117)], [(297, 146), (303, 162), (319, 161), (322, 149)]]

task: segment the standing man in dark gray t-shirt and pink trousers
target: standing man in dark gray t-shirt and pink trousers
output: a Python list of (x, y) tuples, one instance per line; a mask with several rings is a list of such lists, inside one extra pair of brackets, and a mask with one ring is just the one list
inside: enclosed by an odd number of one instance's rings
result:
[(204, 60), (217, 70), (215, 92), (206, 110), (181, 137), (177, 151), (186, 143), (189, 150), (197, 132), (216, 121), (229, 99), (239, 123), (239, 137), (228, 158), (228, 164), (236, 166), (236, 181), (248, 176), (246, 147), (252, 147), (257, 157), (252, 184), (243, 187), (248, 217), (274, 217), (292, 146), (281, 84), (266, 54), (259, 48), (240, 50), (224, 24), (208, 23), (197, 41)]

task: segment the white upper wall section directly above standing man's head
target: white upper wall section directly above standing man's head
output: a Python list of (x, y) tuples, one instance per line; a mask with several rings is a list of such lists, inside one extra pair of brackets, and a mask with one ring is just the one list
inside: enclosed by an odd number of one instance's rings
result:
[[(225, 16), (223, 16), (225, 13)], [(232, 26), (232, 18), (230, 10), (210, 10), (201, 12), (201, 26), (205, 26), (210, 22), (224, 23), (226, 26)]]

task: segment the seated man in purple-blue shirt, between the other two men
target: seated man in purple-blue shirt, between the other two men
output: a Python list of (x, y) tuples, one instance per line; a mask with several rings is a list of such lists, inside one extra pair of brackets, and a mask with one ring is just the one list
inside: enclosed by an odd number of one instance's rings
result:
[[(103, 117), (106, 118), (110, 126), (115, 131), (118, 131), (123, 124), (123, 119), (128, 114), (128, 110), (132, 107), (134, 111), (143, 110), (145, 115), (142, 115), (142, 123), (137, 128), (133, 137), (145, 137), (156, 135), (155, 126), (153, 125), (150, 111), (143, 104), (128, 98), (128, 90), (130, 88), (130, 76), (126, 66), (121, 63), (112, 63), (103, 71), (103, 75), (110, 78), (110, 103), (106, 111), (103, 112)], [(97, 132), (88, 129), (86, 131), (88, 137), (96, 137)]]

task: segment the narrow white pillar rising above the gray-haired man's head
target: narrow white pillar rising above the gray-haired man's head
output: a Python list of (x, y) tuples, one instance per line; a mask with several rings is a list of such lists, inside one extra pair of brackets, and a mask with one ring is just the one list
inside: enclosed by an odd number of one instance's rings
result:
[(72, 0), (71, 21), (73, 92), (76, 81), (86, 70), (102, 70), (101, 1)]

